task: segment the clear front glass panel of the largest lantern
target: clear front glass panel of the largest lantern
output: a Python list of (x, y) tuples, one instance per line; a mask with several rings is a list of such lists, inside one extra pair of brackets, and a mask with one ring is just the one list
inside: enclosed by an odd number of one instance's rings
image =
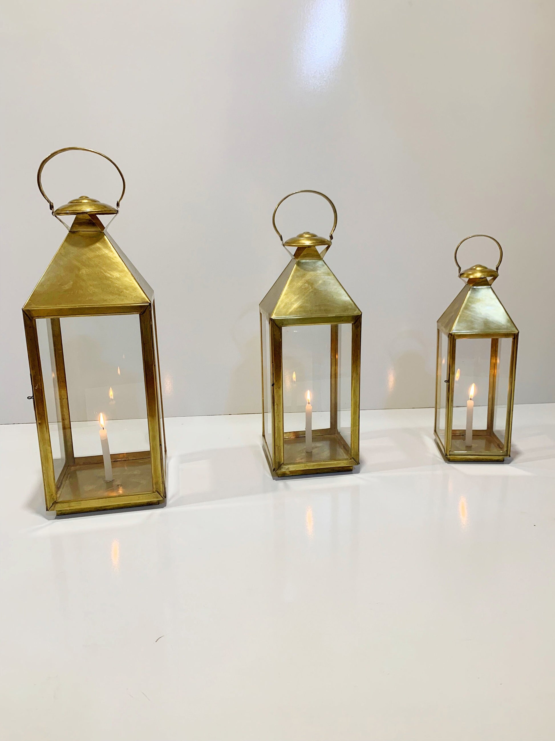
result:
[(51, 321), (61, 328), (53, 339), (65, 371), (70, 420), (58, 501), (147, 494), (152, 468), (138, 314)]

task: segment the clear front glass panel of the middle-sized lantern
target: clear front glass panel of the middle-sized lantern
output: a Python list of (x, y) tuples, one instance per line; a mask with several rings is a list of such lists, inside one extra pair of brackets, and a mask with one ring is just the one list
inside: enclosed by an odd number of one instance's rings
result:
[(332, 363), (338, 360), (337, 342), (337, 325), (282, 330), (285, 463), (344, 460), (350, 456), (335, 424), (333, 429), (331, 425), (331, 408), (337, 399), (337, 386), (332, 395), (331, 382)]

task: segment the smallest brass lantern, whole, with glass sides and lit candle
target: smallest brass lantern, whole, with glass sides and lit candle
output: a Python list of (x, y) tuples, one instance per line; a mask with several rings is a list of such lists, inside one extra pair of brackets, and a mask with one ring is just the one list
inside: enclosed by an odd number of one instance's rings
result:
[[(499, 247), (495, 270), (461, 272), (457, 251), (474, 236)], [(511, 455), (518, 330), (491, 288), (501, 245), (487, 234), (462, 242), (454, 258), (466, 285), (437, 322), (434, 436), (448, 461), (502, 461)]]

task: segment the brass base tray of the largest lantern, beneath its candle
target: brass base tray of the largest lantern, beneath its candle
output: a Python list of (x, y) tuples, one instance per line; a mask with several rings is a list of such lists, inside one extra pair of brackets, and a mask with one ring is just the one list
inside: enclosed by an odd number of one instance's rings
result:
[(159, 504), (163, 498), (152, 491), (150, 457), (148, 453), (144, 455), (116, 460), (112, 457), (111, 482), (104, 481), (104, 464), (98, 462), (98, 456), (64, 466), (58, 478), (58, 498), (51, 509), (56, 514), (73, 514)]

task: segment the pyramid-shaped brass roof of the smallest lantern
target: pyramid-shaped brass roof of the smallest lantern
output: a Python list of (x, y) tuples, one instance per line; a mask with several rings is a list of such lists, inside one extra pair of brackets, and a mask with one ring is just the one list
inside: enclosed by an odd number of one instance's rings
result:
[(437, 320), (445, 334), (487, 336), (517, 334), (518, 330), (491, 285), (467, 283)]

